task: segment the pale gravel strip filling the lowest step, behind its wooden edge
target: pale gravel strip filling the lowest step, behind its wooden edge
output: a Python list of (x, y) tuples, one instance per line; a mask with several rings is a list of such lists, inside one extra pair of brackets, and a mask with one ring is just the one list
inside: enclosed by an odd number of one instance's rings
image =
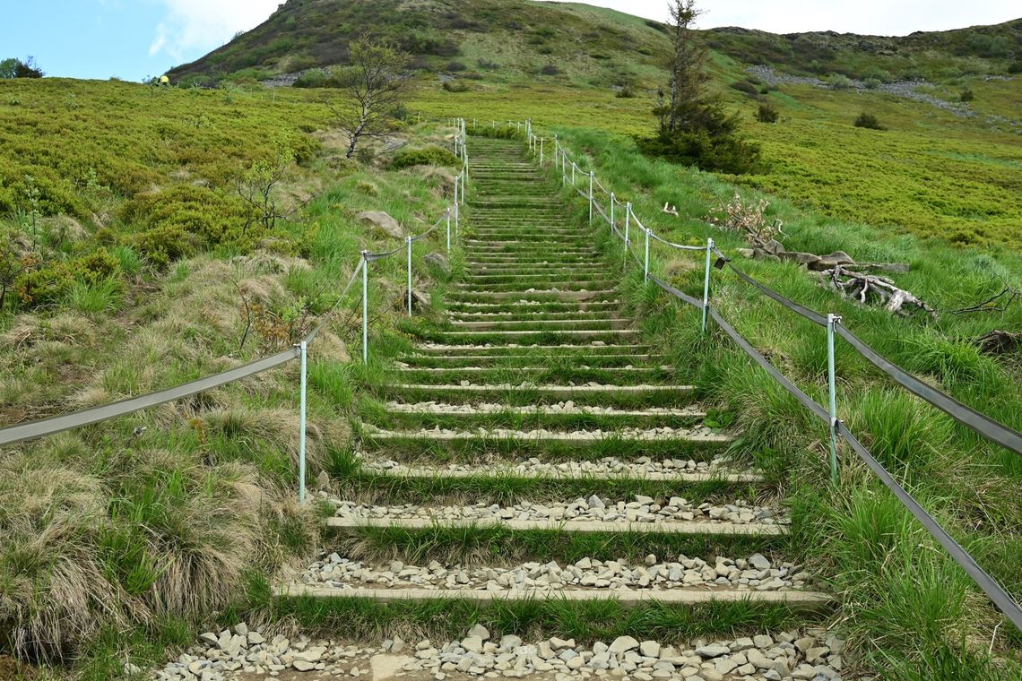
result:
[(374, 566), (331, 553), (311, 565), (298, 576), (304, 584), (322, 584), (338, 589), (404, 586), (485, 591), (699, 587), (782, 591), (803, 588), (808, 579), (808, 574), (798, 570), (794, 564), (774, 564), (760, 553), (738, 560), (717, 556), (712, 563), (686, 555), (661, 562), (651, 553), (641, 564), (585, 557), (564, 566), (551, 561), (523, 563), (510, 568), (445, 567), (436, 561), (427, 566), (406, 565), (401, 561)]

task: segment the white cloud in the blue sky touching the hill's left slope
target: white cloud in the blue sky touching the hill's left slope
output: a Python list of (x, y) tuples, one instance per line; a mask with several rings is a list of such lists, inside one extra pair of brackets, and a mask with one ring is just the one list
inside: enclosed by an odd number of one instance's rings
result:
[(156, 25), (149, 55), (175, 59), (219, 47), (239, 31), (262, 23), (282, 0), (159, 0), (167, 14)]

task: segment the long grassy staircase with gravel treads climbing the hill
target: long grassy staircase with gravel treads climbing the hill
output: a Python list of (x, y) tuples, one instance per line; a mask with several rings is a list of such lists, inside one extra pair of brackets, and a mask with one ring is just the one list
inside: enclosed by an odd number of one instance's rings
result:
[[(621, 312), (616, 276), (559, 183), (518, 142), (472, 138), (470, 149), (467, 266), (445, 301), (449, 323), (423, 331), (375, 388), (351, 479), (329, 497), (332, 543), (278, 597), (556, 601), (578, 617), (609, 599), (649, 609), (648, 627), (629, 632), (638, 640), (662, 631), (657, 613), (705, 616), (693, 650), (714, 633), (765, 640), (781, 623), (818, 620), (830, 598), (786, 561), (786, 509), (728, 456), (732, 435), (703, 425), (684, 371)], [(688, 674), (675, 664), (647, 677), (840, 678), (816, 673), (799, 636), (756, 648), (769, 668), (742, 652), (749, 638), (693, 653)], [(782, 652), (799, 675), (782, 674)]]

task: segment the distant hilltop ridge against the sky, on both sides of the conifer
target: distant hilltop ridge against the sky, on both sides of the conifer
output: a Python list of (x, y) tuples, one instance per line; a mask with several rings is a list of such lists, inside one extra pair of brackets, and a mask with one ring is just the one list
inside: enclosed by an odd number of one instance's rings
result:
[[(400, 45), (423, 75), (655, 85), (658, 55), (667, 46), (664, 32), (658, 21), (577, 3), (288, 0), (261, 26), (171, 76), (205, 82), (265, 79), (342, 64), (349, 40), (367, 33)], [(905, 37), (782, 36), (739, 28), (704, 34), (713, 50), (744, 64), (881, 82), (1008, 74), (1022, 59), (1022, 19)]]

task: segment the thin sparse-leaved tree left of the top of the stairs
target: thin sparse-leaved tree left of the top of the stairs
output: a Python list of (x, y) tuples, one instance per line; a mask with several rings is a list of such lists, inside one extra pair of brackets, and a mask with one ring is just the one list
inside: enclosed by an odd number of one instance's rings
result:
[(337, 126), (347, 135), (347, 158), (355, 155), (362, 138), (379, 137), (390, 131), (396, 113), (412, 90), (411, 57), (387, 43), (368, 38), (352, 42), (352, 65), (337, 74), (340, 87), (352, 101), (334, 108)]

